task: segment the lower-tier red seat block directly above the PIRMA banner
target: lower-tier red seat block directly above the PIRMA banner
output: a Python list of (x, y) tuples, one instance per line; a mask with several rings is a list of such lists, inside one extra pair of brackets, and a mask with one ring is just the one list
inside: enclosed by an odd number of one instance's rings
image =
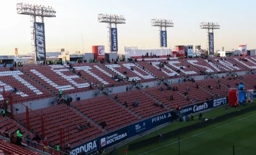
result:
[[(166, 108), (156, 107), (154, 103), (156, 103), (157, 101), (154, 101), (146, 93), (143, 93), (140, 90), (116, 93), (111, 96), (114, 97), (115, 95), (117, 95), (118, 101), (120, 103), (125, 104), (126, 101), (128, 104), (128, 108), (131, 109), (131, 111), (137, 113), (143, 119), (167, 111)], [(133, 107), (133, 104), (136, 100), (138, 100), (139, 103), (138, 107)]]

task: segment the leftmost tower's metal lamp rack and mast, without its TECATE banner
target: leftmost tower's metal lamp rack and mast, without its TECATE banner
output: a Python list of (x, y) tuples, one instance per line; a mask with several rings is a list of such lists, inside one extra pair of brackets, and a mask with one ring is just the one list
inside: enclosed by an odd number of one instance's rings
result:
[[(32, 52), (35, 52), (35, 27), (34, 22), (37, 22), (37, 17), (41, 18), (42, 23), (43, 18), (45, 17), (56, 17), (56, 11), (53, 7), (46, 7), (44, 5), (32, 5), (29, 3), (17, 3), (17, 14), (22, 15), (30, 15), (30, 23), (31, 23), (31, 46)], [(36, 55), (36, 54), (35, 54)]]

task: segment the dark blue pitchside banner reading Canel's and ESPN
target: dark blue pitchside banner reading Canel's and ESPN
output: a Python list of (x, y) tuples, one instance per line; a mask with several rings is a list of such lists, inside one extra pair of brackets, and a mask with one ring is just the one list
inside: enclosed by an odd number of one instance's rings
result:
[(183, 115), (190, 115), (191, 113), (196, 113), (196, 112), (204, 111), (206, 109), (219, 107), (219, 106), (227, 104), (227, 103), (229, 103), (229, 98), (222, 97), (219, 99), (209, 100), (209, 101), (205, 101), (203, 103), (198, 103), (198, 104), (194, 104), (194, 105), (190, 105), (190, 106), (181, 108), (181, 113)]

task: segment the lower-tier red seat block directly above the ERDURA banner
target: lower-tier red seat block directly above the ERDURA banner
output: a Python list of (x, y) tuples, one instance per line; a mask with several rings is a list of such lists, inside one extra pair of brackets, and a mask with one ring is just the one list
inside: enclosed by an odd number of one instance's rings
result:
[[(42, 134), (40, 116), (43, 116), (45, 121), (45, 137), (48, 138), (51, 145), (59, 144), (59, 130), (61, 128), (65, 130), (65, 142), (69, 142), (71, 146), (78, 145), (81, 141), (87, 141), (104, 134), (102, 129), (90, 123), (89, 120), (75, 112), (72, 108), (66, 105), (54, 105), (49, 108), (30, 112), (30, 128), (40, 135)], [(26, 113), (17, 114), (15, 118), (21, 121), (21, 123), (26, 124), (27, 122)], [(78, 124), (87, 123), (90, 123), (91, 128), (82, 131), (78, 130)]]

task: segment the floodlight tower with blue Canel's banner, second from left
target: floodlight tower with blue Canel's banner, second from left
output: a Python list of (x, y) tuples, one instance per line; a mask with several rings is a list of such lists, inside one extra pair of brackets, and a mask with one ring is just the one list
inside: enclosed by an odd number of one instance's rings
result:
[[(126, 19), (123, 15), (116, 14), (98, 14), (98, 22), (107, 23), (107, 46), (110, 52), (118, 52), (117, 25), (125, 24)], [(114, 27), (112, 27), (112, 25)]]

